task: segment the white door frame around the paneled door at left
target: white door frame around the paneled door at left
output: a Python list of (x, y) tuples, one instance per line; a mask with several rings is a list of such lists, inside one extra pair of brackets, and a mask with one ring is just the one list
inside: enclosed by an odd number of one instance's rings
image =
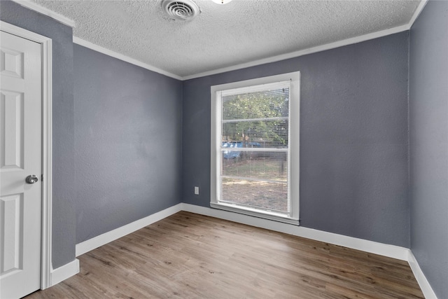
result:
[(51, 286), (52, 233), (52, 40), (27, 29), (0, 21), (0, 28), (24, 39), (41, 44), (42, 55), (42, 223), (41, 289)]

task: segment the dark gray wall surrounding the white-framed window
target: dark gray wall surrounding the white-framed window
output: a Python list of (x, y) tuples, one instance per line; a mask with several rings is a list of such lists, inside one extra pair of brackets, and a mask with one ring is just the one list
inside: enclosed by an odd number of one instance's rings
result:
[(301, 224), (409, 247), (407, 53), (402, 32), (185, 81), (183, 201), (209, 207), (210, 86), (301, 71)]

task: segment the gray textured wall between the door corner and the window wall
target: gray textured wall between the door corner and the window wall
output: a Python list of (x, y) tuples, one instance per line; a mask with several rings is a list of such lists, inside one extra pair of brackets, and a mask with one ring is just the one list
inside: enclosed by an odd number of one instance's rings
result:
[(182, 82), (73, 45), (76, 243), (181, 202)]

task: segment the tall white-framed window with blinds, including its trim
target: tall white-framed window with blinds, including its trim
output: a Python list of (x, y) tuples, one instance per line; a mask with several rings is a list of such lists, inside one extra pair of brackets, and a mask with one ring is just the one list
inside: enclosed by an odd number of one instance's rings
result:
[(298, 223), (300, 73), (211, 86), (211, 207)]

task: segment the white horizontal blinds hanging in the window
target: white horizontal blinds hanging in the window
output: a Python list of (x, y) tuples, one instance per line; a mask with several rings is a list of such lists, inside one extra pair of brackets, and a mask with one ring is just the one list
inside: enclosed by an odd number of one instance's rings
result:
[(291, 216), (290, 81), (216, 92), (217, 200)]

